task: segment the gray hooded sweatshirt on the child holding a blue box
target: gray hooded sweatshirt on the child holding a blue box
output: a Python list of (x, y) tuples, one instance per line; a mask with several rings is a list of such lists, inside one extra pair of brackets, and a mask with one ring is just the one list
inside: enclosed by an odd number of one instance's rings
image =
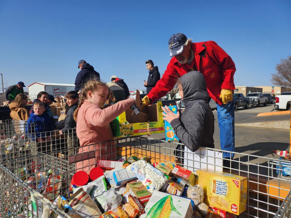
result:
[(171, 122), (175, 134), (193, 152), (200, 146), (214, 148), (214, 116), (207, 103), (209, 95), (204, 76), (199, 71), (191, 71), (179, 80), (185, 111), (180, 119)]

